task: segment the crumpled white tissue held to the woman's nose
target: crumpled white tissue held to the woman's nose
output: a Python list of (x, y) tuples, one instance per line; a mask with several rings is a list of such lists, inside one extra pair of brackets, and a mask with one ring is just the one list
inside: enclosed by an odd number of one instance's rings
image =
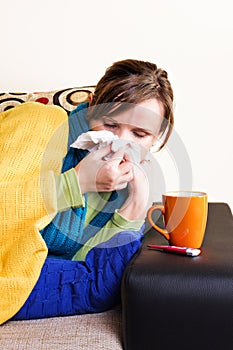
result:
[(119, 139), (117, 135), (114, 135), (111, 131), (107, 130), (88, 131), (83, 133), (70, 145), (70, 147), (86, 149), (92, 152), (102, 147), (106, 147), (109, 144), (112, 145), (112, 153), (104, 157), (104, 160), (111, 158), (112, 155), (122, 147), (125, 148), (125, 153), (129, 156), (131, 162), (140, 164), (142, 160), (150, 159), (149, 152), (143, 149), (138, 143)]

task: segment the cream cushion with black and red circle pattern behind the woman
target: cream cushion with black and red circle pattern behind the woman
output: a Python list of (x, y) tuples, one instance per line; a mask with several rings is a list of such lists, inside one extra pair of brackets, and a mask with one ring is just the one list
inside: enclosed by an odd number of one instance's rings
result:
[(80, 103), (87, 101), (89, 94), (94, 90), (95, 86), (83, 86), (46, 92), (2, 92), (0, 93), (0, 112), (20, 103), (35, 101), (61, 106), (70, 113)]

